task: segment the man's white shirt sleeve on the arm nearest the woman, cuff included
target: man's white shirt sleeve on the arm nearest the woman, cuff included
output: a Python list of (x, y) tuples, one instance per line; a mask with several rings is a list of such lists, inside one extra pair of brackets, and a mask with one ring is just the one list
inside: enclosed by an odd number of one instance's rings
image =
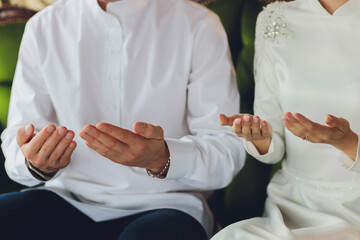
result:
[(215, 14), (195, 29), (188, 83), (187, 123), (191, 134), (166, 139), (171, 164), (167, 179), (201, 189), (225, 187), (244, 164), (245, 150), (218, 114), (239, 111), (239, 93), (225, 30)]

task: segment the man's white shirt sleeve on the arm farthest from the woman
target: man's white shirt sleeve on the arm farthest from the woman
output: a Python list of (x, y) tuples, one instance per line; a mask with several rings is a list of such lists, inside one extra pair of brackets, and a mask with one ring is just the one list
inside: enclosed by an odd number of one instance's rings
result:
[(56, 114), (38, 67), (41, 34), (36, 33), (33, 19), (25, 27), (11, 90), (8, 125), (1, 135), (6, 172), (12, 180), (26, 186), (35, 186), (41, 181), (25, 165), (25, 156), (16, 142), (17, 130), (29, 123), (34, 124), (35, 132), (47, 124), (57, 124)]

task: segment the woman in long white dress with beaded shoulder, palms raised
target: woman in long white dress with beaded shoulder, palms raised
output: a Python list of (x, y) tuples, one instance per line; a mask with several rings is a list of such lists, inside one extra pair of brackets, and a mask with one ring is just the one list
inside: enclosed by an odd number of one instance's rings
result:
[(282, 170), (264, 217), (213, 240), (360, 239), (360, 0), (270, 3), (255, 48), (256, 115), (220, 123)]

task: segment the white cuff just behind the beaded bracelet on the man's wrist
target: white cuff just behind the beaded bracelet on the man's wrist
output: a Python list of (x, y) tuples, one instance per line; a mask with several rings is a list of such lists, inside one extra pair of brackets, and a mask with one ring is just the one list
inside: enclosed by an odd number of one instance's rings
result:
[(171, 158), (166, 179), (179, 180), (185, 178), (195, 165), (197, 150), (194, 143), (179, 139), (166, 139), (166, 144)]

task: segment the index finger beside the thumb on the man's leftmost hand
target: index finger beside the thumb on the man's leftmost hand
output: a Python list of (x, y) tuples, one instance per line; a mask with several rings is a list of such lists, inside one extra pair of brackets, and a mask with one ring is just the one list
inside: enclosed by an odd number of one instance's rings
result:
[(56, 130), (54, 124), (50, 124), (43, 129), (39, 133), (37, 133), (24, 148), (25, 157), (27, 159), (32, 159), (41, 149), (46, 139), (48, 139), (52, 133)]

